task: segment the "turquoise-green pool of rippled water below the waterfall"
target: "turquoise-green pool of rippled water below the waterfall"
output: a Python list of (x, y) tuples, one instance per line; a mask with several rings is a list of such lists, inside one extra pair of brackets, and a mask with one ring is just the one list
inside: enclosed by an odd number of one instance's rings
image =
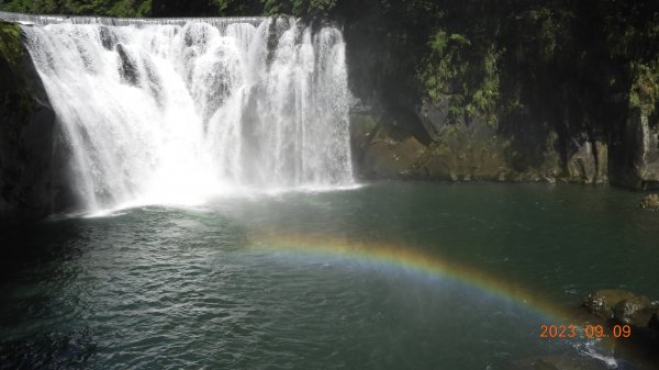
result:
[[(639, 200), (607, 188), (394, 182), (47, 221), (4, 237), (21, 251), (2, 259), (0, 360), (522, 369), (560, 357), (651, 369), (622, 343), (538, 338), (548, 313), (592, 290), (659, 298), (659, 213)], [(400, 264), (372, 257), (399, 249)], [(492, 283), (474, 284), (481, 272)]]

